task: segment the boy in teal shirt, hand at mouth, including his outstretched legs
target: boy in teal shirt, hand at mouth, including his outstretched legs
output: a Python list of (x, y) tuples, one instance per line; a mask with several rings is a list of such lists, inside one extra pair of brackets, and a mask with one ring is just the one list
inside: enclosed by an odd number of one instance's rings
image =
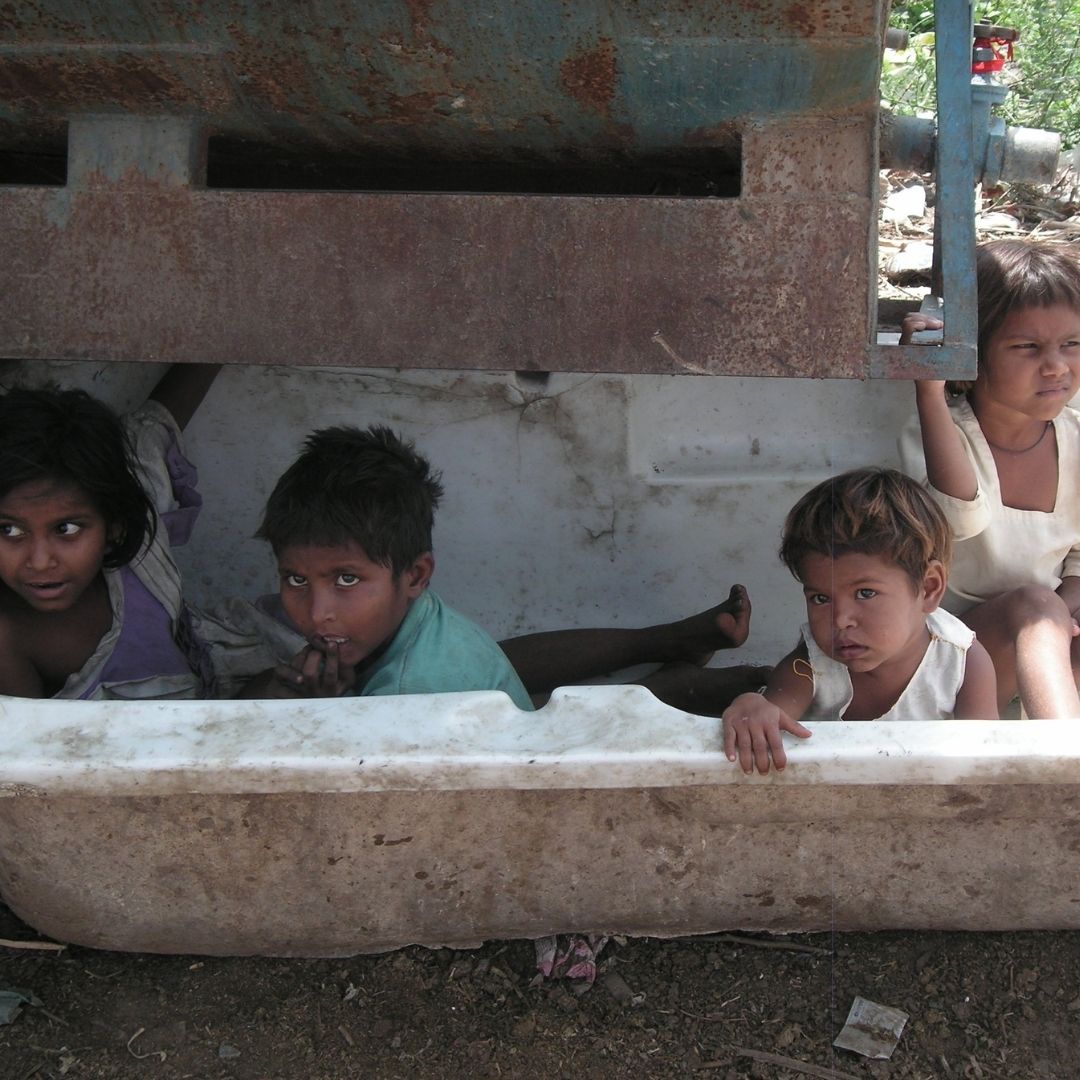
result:
[[(746, 590), (687, 619), (639, 629), (559, 630), (500, 642), (428, 589), (442, 485), (387, 428), (312, 434), (281, 476), (258, 536), (278, 558), (278, 594), (198, 613), (222, 696), (336, 697), (502, 689), (523, 708), (557, 686), (640, 663), (662, 701), (713, 715), (768, 669), (706, 669), (750, 632)], [(253, 676), (255, 676), (253, 678)], [(536, 697), (530, 703), (528, 693)]]

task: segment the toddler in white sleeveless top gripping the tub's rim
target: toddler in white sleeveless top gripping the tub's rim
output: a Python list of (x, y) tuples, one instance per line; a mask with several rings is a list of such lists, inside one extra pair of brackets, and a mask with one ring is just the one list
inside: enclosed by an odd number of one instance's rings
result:
[(941, 510), (894, 469), (856, 469), (799, 499), (780, 557), (808, 621), (762, 691), (725, 711), (729, 760), (783, 769), (781, 732), (809, 738), (802, 719), (997, 719), (988, 653), (939, 607), (950, 555)]

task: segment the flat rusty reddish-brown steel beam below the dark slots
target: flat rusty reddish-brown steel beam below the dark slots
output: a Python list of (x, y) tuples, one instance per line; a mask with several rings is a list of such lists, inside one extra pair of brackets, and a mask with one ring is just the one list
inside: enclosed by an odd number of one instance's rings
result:
[(854, 198), (15, 188), (0, 355), (860, 377), (868, 214)]

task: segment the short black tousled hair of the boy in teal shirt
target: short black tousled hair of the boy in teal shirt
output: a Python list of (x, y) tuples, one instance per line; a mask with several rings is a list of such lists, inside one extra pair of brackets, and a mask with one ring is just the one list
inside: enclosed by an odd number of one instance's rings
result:
[(274, 485), (256, 536), (275, 554), (355, 543), (399, 575), (431, 551), (442, 494), (438, 473), (389, 428), (324, 428)]

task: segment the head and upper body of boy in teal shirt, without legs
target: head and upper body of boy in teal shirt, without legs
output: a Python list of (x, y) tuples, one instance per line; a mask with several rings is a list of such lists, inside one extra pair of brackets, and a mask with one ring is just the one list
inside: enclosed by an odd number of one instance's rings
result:
[(390, 429), (310, 435), (258, 536), (281, 580), (269, 613), (306, 644), (248, 697), (503, 690), (531, 702), (499, 646), (429, 588), (438, 476)]

